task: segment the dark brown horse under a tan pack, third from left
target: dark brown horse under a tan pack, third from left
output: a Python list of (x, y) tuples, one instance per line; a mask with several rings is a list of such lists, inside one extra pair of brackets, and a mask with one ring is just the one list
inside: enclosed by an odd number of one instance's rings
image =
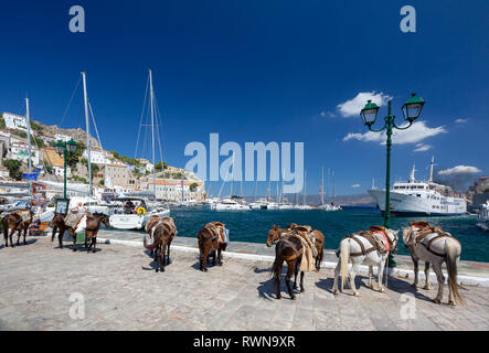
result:
[[(173, 218), (152, 215), (146, 224), (145, 231), (153, 238), (153, 242), (148, 245), (145, 237), (142, 239), (143, 246), (151, 250), (151, 255), (155, 250), (156, 271), (158, 272), (161, 269), (164, 272), (164, 265), (170, 264), (170, 245), (178, 233)], [(164, 255), (167, 255), (167, 261)]]

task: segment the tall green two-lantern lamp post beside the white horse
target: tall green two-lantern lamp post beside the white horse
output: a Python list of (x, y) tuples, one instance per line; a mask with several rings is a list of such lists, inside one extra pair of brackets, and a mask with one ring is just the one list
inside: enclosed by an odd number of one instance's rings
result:
[[(363, 107), (360, 116), (362, 117), (363, 124), (369, 128), (370, 131), (381, 132), (386, 130), (387, 135), (387, 161), (386, 161), (386, 171), (385, 171), (385, 210), (384, 210), (384, 226), (386, 228), (391, 227), (391, 146), (392, 146), (392, 132), (393, 129), (405, 130), (410, 128), (414, 120), (419, 117), (421, 110), (423, 109), (425, 101), (423, 98), (416, 96), (413, 93), (407, 99), (407, 101), (403, 105), (402, 111), (404, 115), (404, 119), (408, 122), (406, 126), (400, 127), (395, 125), (395, 116), (392, 115), (392, 100), (389, 100), (389, 111), (387, 116), (384, 118), (384, 126), (381, 129), (373, 129), (372, 125), (375, 122), (379, 106), (372, 100), (368, 100), (365, 106)], [(392, 258), (392, 254), (389, 254), (389, 264), (391, 267), (395, 267), (395, 261)]]

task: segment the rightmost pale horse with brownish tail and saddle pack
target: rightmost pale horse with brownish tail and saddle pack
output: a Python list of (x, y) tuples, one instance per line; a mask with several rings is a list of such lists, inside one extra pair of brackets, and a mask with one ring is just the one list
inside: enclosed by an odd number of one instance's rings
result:
[(438, 293), (433, 301), (440, 303), (445, 284), (442, 264), (446, 263), (448, 270), (448, 304), (455, 306), (455, 301), (458, 301), (464, 306), (465, 301), (458, 291), (457, 285), (457, 266), (461, 253), (460, 243), (449, 233), (443, 232), (439, 227), (432, 227), (427, 222), (411, 222), (410, 227), (403, 228), (403, 240), (411, 252), (414, 264), (413, 287), (417, 288), (418, 261), (423, 260), (425, 261), (426, 278), (424, 289), (429, 289), (429, 265), (432, 264), (438, 280)]

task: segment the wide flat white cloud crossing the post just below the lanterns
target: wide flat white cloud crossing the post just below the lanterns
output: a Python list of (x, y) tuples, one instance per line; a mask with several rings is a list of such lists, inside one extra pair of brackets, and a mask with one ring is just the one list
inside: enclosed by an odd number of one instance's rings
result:
[[(424, 121), (416, 121), (406, 130), (394, 129), (394, 132), (392, 135), (392, 143), (396, 145), (418, 143), (428, 137), (444, 132), (447, 132), (447, 130), (443, 126), (430, 128), (426, 126)], [(385, 145), (386, 139), (387, 137), (385, 131), (382, 132), (368, 131), (365, 133), (350, 132), (343, 138), (343, 141), (359, 140), (365, 142), (381, 142), (382, 145)]]

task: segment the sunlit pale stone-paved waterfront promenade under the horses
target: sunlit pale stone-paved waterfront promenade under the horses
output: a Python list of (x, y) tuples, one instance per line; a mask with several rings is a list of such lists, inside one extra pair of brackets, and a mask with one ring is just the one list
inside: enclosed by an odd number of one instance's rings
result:
[[(59, 249), (51, 237), (28, 237), (29, 244), (0, 247), (0, 329), (2, 330), (489, 330), (489, 288), (465, 286), (467, 307), (430, 301), (430, 290), (411, 287), (411, 279), (393, 276), (385, 293), (364, 286), (361, 298), (333, 296), (332, 270), (308, 272), (306, 292), (275, 299), (267, 256), (262, 244), (232, 243), (224, 266), (199, 270), (195, 238), (177, 237), (172, 264), (157, 274), (139, 246), (141, 233), (102, 231), (96, 254), (71, 243)], [(117, 244), (118, 242), (132, 242)], [(109, 243), (109, 242), (107, 242)], [(128, 246), (134, 245), (134, 246)], [(259, 259), (251, 259), (253, 256)], [(336, 260), (328, 252), (328, 260)], [(398, 257), (401, 267), (407, 261)], [(461, 275), (487, 276), (487, 264), (461, 264)], [(471, 267), (475, 268), (471, 271)], [(482, 277), (480, 277), (482, 278)], [(72, 319), (70, 297), (84, 299), (85, 318)], [(403, 318), (405, 293), (415, 295), (414, 319)], [(413, 313), (413, 311), (411, 311)]]

